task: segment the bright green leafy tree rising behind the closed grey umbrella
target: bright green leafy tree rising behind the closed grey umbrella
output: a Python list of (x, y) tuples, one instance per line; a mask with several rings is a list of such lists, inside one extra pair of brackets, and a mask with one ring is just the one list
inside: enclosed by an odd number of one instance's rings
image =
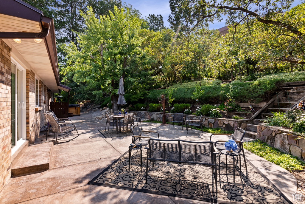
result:
[[(117, 89), (119, 78), (123, 76), (124, 86), (135, 86), (137, 92), (142, 91), (141, 80), (137, 80), (133, 73), (139, 72), (133, 62), (141, 55), (141, 30), (142, 20), (129, 12), (129, 8), (118, 9), (109, 16), (96, 18), (90, 8), (84, 17), (86, 30), (79, 35), (80, 50), (76, 44), (71, 43), (66, 47), (67, 66), (63, 71), (74, 74), (73, 80), (85, 83), (88, 88), (100, 87), (93, 91), (93, 95), (107, 93), (111, 96), (113, 110), (117, 111)], [(126, 85), (125, 85), (126, 84)]]

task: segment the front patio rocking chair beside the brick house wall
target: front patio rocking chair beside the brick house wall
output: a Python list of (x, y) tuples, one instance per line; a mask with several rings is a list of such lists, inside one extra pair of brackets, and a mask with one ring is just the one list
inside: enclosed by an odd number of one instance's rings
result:
[[(80, 134), (78, 133), (75, 125), (73, 122), (58, 122), (54, 116), (51, 114), (51, 113), (44, 113), (45, 115), (45, 118), (48, 120), (49, 124), (51, 125), (50, 128), (48, 128), (48, 133), (47, 133), (47, 136), (46, 136), (46, 141), (48, 140), (48, 135), (49, 135), (49, 131), (51, 130), (53, 133), (56, 133), (56, 140), (55, 142), (57, 143), (57, 140), (58, 140), (58, 134), (59, 133), (67, 133), (70, 134), (70, 131), (72, 131), (71, 129), (75, 129), (76, 132), (77, 132), (77, 136), (68, 140), (68, 141), (64, 141), (64, 142), (69, 142), (71, 140), (74, 140), (75, 138), (77, 138)], [(72, 126), (69, 126), (69, 124), (71, 124)], [(66, 135), (66, 134), (65, 134)], [(62, 135), (61, 135), (62, 136)], [(67, 136), (67, 135), (66, 135)], [(66, 137), (64, 136), (64, 137)], [(63, 139), (64, 137), (60, 138), (60, 139)], [(59, 139), (59, 140), (60, 140)], [(54, 141), (54, 140), (49, 140), (49, 141)], [(63, 142), (60, 142), (60, 143), (63, 143)]]

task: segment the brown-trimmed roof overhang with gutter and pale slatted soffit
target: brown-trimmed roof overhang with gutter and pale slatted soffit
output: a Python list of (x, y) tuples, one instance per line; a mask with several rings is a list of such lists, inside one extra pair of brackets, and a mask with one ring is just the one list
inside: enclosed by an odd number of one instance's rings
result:
[[(21, 0), (0, 0), (0, 39), (9, 39), (53, 93), (59, 93), (59, 70), (52, 18)], [(13, 39), (21, 39), (21, 43)], [(42, 39), (40, 43), (34, 39)], [(69, 87), (68, 87), (69, 88)]]

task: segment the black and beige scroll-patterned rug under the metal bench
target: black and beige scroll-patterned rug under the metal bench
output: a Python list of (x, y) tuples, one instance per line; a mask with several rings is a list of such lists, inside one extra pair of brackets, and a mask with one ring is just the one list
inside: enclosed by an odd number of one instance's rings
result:
[[(214, 193), (215, 180), (214, 178), (212, 179), (211, 168), (199, 165), (154, 162), (154, 167), (152, 167), (152, 162), (150, 162), (150, 171), (147, 177), (147, 184), (145, 184), (145, 157), (146, 151), (143, 150), (143, 170), (141, 171), (140, 151), (133, 151), (130, 171), (128, 171), (127, 151), (94, 179), (89, 181), (88, 184), (215, 203), (292, 204), (248, 160), (248, 171), (246, 172), (242, 159), (242, 179), (239, 176), (239, 164), (238, 167), (235, 165), (235, 183), (233, 183), (233, 162), (228, 157), (228, 174), (226, 175), (225, 157), (221, 157), (224, 161), (222, 160), (221, 162), (220, 181), (217, 170), (217, 180), (219, 182), (218, 193), (216, 194)], [(217, 158), (217, 166), (218, 162)]]

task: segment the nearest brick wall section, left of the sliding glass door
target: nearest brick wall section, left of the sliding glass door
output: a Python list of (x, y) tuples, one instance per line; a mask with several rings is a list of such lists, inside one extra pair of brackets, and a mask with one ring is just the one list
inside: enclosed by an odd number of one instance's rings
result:
[(0, 39), (0, 191), (11, 176), (11, 60), (10, 49)]

